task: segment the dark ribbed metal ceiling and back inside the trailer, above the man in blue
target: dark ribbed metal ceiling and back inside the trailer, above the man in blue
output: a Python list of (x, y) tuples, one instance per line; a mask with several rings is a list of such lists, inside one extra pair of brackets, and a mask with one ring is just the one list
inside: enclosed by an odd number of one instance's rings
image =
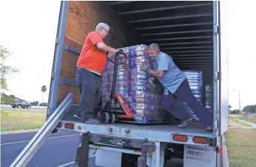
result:
[(144, 40), (159, 43), (181, 70), (213, 78), (212, 1), (108, 1)]

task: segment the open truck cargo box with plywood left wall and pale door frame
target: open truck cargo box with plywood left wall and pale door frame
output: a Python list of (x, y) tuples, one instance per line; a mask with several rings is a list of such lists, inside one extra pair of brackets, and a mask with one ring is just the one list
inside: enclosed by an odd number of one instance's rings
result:
[[(182, 71), (202, 71), (202, 87), (212, 85), (213, 88), (212, 99), (207, 96), (206, 104), (208, 106), (209, 102), (212, 102), (215, 130), (205, 132), (203, 127), (199, 126), (200, 123), (195, 123), (182, 131), (189, 135), (196, 132), (207, 136), (223, 134), (228, 129), (227, 54), (226, 32), (223, 31), (221, 33), (223, 38), (220, 38), (218, 12), (215, 1), (69, 1), (62, 3), (47, 116), (50, 116), (65, 96), (72, 92), (74, 105), (64, 117), (64, 121), (77, 121), (73, 118), (73, 114), (80, 102), (80, 93), (75, 84), (75, 65), (87, 34), (95, 29), (96, 24), (105, 22), (111, 27), (110, 35), (106, 38), (108, 45), (124, 48), (141, 43), (145, 45), (159, 43), (161, 51), (171, 55)], [(223, 25), (223, 29), (226, 29), (225, 24)], [(220, 46), (223, 47), (220, 49)], [(204, 103), (204, 100), (202, 102)], [(124, 125), (113, 124), (112, 126), (123, 127)], [(129, 127), (126, 124), (125, 127), (127, 126)], [(172, 131), (176, 126), (166, 125), (163, 129), (162, 127), (152, 129)], [(133, 125), (131, 128), (145, 127)]]

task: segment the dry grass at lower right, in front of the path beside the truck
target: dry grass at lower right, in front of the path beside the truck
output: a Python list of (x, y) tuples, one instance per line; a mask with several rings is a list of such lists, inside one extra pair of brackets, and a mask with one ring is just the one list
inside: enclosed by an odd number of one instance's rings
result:
[(256, 129), (229, 129), (225, 138), (230, 167), (255, 167)]

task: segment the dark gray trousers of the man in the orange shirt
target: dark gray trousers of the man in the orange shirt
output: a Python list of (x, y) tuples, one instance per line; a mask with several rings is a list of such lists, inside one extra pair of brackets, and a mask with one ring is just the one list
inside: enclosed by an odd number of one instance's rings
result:
[(93, 111), (101, 99), (101, 76), (85, 68), (77, 68), (75, 80), (81, 93), (78, 109), (82, 121), (92, 118)]

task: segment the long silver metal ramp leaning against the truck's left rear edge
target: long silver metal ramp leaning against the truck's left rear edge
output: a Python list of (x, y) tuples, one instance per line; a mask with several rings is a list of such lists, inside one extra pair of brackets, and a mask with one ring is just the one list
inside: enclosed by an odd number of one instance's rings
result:
[(13, 161), (10, 167), (26, 166), (72, 105), (73, 93), (69, 93), (53, 114), (47, 119), (43, 127), (41, 127), (22, 152), (18, 154), (18, 157), (16, 157), (16, 160)]

